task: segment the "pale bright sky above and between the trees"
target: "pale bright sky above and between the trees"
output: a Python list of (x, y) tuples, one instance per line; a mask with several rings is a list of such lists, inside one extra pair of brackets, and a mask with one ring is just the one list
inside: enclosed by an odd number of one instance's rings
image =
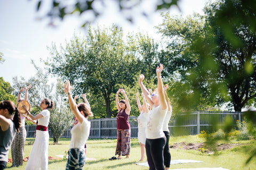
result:
[[(49, 2), (51, 1), (43, 1), (46, 4)], [(184, 16), (193, 12), (203, 13), (202, 9), (206, 2), (206, 0), (180, 0), (181, 12), (177, 7), (172, 7), (170, 10), (173, 14)], [(35, 60), (37, 65), (42, 65), (39, 58), (46, 60), (50, 56), (46, 47), (51, 46), (52, 42), (57, 46), (65, 45), (65, 39), (69, 40), (73, 37), (74, 32), (81, 32), (81, 35), (85, 35), (86, 32), (81, 28), (82, 19), (78, 16), (67, 17), (58, 27), (50, 27), (47, 25), (48, 19), (37, 19), (42, 12), (36, 12), (36, 3), (35, 0), (0, 1), (0, 52), (4, 54), (5, 59), (5, 62), (0, 64), (0, 77), (11, 84), (15, 76), (24, 77), (27, 80), (35, 75), (36, 71), (30, 62), (31, 59)], [(137, 32), (140, 29), (154, 38), (156, 37), (154, 26), (161, 23), (161, 18), (159, 14), (153, 13), (149, 20), (137, 18), (132, 25), (118, 18), (115, 10), (109, 10), (97, 21), (99, 25), (106, 25), (106, 27), (114, 22), (121, 25), (124, 32)]]

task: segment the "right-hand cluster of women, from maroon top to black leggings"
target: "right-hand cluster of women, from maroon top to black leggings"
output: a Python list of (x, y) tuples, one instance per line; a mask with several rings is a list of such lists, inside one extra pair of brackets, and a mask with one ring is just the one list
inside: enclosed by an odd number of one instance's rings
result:
[[(139, 100), (139, 91), (137, 92), (137, 105), (140, 111), (138, 116), (138, 139), (141, 147), (142, 161), (145, 158), (145, 150), (149, 169), (169, 169), (171, 162), (171, 154), (169, 151), (169, 121), (172, 114), (172, 106), (170, 99), (167, 97), (166, 90), (168, 85), (163, 86), (161, 72), (163, 65), (160, 64), (156, 68), (157, 89), (152, 93), (151, 89), (147, 89), (142, 81), (145, 79), (141, 74), (139, 77), (139, 86), (142, 91), (141, 105)], [(125, 100), (118, 100), (118, 94), (121, 92)], [(121, 156), (129, 158), (130, 155), (130, 139), (131, 128), (128, 121), (131, 107), (124, 89), (119, 89), (116, 93), (117, 114), (117, 159)], [(113, 158), (110, 158), (113, 159)]]

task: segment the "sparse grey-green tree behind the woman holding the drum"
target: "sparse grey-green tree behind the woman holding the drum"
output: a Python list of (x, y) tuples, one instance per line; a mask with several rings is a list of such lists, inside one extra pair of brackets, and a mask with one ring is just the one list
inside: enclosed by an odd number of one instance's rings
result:
[[(68, 107), (67, 96), (63, 90), (64, 83), (58, 79), (56, 85), (50, 82), (49, 70), (44, 70), (38, 67), (33, 61), (32, 63), (37, 70), (34, 77), (28, 80), (24, 78), (13, 78), (15, 94), (18, 95), (22, 87), (27, 87), (29, 84), (32, 87), (28, 91), (28, 101), (31, 104), (31, 114), (37, 115), (41, 112), (40, 103), (44, 98), (49, 98), (54, 103), (54, 108), (50, 110), (49, 128), (53, 135), (53, 141), (58, 143), (63, 132), (70, 128), (73, 123), (74, 115)], [(22, 94), (24, 95), (24, 94)], [(23, 97), (23, 96), (22, 96)]]

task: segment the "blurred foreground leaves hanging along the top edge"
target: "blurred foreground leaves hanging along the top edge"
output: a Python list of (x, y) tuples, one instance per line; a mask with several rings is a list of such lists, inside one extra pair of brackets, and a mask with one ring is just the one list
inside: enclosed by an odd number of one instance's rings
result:
[[(90, 15), (90, 18), (84, 17), (84, 24), (94, 22), (98, 18), (100, 18), (102, 15), (104, 15), (105, 12), (108, 12), (109, 10), (115, 10), (117, 11), (117, 15), (122, 16), (122, 18), (126, 21), (133, 22), (138, 15), (146, 16), (148, 17), (148, 10), (153, 6), (154, 10), (162, 10), (162, 9), (168, 9), (172, 5), (178, 6), (179, 0), (171, 0), (171, 1), (163, 1), (163, 0), (157, 0), (153, 2), (149, 2), (147, 0), (141, 1), (141, 0), (135, 0), (135, 1), (128, 1), (128, 0), (86, 0), (86, 1), (60, 1), (60, 0), (52, 0), (51, 1), (51, 7), (47, 8), (46, 16), (51, 18), (52, 23), (57, 20), (65, 18), (66, 15)], [(40, 0), (37, 3), (37, 11), (41, 10), (42, 4), (45, 1)], [(147, 5), (147, 8), (143, 8), (141, 6)]]

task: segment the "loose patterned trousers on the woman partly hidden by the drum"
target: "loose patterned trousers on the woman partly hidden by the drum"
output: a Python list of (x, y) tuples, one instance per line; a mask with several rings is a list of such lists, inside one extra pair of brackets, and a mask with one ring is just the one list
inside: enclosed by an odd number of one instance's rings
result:
[(12, 166), (23, 165), (24, 146), (27, 137), (27, 131), (25, 127), (20, 127), (20, 132), (15, 134), (12, 141)]

